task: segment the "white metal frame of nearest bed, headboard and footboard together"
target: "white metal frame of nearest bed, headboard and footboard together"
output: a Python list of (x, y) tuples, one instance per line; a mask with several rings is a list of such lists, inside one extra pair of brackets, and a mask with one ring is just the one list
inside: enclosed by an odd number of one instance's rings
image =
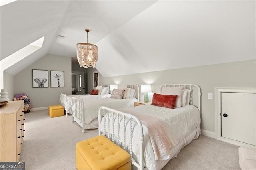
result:
[[(165, 85), (161, 85), (160, 87), (160, 93), (162, 91), (162, 87), (180, 87), (180, 86), (184, 86), (184, 89), (190, 89), (191, 93), (190, 93), (190, 105), (192, 105), (192, 93), (193, 93), (193, 87), (196, 87), (198, 89), (198, 110), (201, 114), (201, 89), (198, 85), (196, 84), (165, 84)], [(103, 115), (101, 114), (103, 110)], [(112, 130), (112, 132), (110, 132), (110, 128), (109, 126), (112, 125), (112, 129), (114, 129), (114, 123), (116, 122), (114, 120), (110, 121), (110, 119), (108, 119), (110, 116), (112, 116), (112, 118), (114, 119), (114, 115), (117, 116), (117, 118), (119, 119), (118, 115), (122, 115), (123, 116), (123, 120), (124, 120), (124, 125), (125, 125), (125, 119), (128, 119), (130, 121), (130, 126), (129, 124), (127, 124), (127, 126), (124, 126), (123, 129), (123, 134), (124, 134), (124, 141), (120, 141), (119, 139), (119, 134), (120, 132), (118, 132), (117, 136), (115, 136), (114, 134), (114, 130)], [(103, 122), (103, 126), (104, 126), (104, 130), (102, 131), (100, 129), (100, 124), (101, 124), (101, 120), (102, 120), (102, 116), (104, 116), (106, 119)], [(142, 124), (140, 123), (140, 120), (129, 113), (124, 113), (121, 111), (117, 111), (115, 109), (111, 109), (105, 106), (100, 107), (99, 112), (98, 112), (98, 120), (99, 120), (99, 135), (104, 135), (107, 138), (109, 138), (110, 140), (112, 140), (115, 144), (117, 144), (118, 146), (122, 147), (124, 150), (126, 150), (128, 153), (130, 153), (131, 158), (132, 158), (132, 164), (134, 166), (136, 166), (139, 170), (143, 170), (144, 169), (144, 146), (143, 146), (143, 142), (144, 142), (144, 134), (143, 134), (143, 128), (142, 128)], [(106, 120), (108, 121), (108, 127), (106, 127)], [(139, 127), (140, 127), (140, 139), (139, 139), (139, 148), (140, 148), (140, 158), (139, 160), (136, 162), (136, 160), (134, 160), (133, 156), (132, 156), (132, 133), (130, 133), (130, 136), (128, 136), (130, 138), (130, 143), (128, 144), (129, 147), (127, 147), (127, 144), (125, 144), (125, 138), (126, 138), (126, 128), (132, 128), (132, 120), (136, 121), (136, 123), (138, 123)], [(111, 123), (112, 122), (112, 123)], [(117, 121), (119, 124), (119, 120)], [(127, 122), (127, 121), (126, 121)], [(120, 125), (117, 125), (118, 129), (120, 129)], [(130, 130), (132, 132), (132, 130)], [(121, 144), (123, 143), (123, 145)], [(121, 146), (122, 145), (122, 146)]]

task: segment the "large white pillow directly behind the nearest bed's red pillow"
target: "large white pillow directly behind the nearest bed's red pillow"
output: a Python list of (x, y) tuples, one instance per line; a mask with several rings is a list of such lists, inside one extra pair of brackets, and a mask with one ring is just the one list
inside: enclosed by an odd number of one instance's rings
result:
[(182, 90), (184, 89), (183, 86), (180, 87), (162, 87), (161, 94), (164, 95), (178, 95), (176, 102), (175, 102), (175, 107), (181, 107), (181, 94)]

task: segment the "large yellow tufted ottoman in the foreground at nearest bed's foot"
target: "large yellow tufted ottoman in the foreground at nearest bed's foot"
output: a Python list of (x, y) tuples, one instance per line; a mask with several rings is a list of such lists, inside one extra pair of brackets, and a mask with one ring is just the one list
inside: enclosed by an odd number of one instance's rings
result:
[(131, 158), (125, 150), (105, 136), (76, 143), (78, 170), (131, 170)]

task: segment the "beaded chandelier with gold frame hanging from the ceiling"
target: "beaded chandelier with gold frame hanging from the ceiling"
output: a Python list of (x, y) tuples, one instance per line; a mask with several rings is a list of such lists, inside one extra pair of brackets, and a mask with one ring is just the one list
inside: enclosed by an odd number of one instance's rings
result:
[(76, 44), (76, 57), (80, 67), (95, 68), (96, 62), (98, 61), (98, 47), (91, 43), (88, 43), (88, 32), (89, 29), (85, 29), (87, 32), (87, 43)]

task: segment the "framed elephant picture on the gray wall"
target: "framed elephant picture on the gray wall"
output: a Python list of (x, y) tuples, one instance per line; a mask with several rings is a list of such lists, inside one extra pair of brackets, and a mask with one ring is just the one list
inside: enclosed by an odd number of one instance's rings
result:
[(32, 70), (33, 88), (48, 87), (48, 70)]

